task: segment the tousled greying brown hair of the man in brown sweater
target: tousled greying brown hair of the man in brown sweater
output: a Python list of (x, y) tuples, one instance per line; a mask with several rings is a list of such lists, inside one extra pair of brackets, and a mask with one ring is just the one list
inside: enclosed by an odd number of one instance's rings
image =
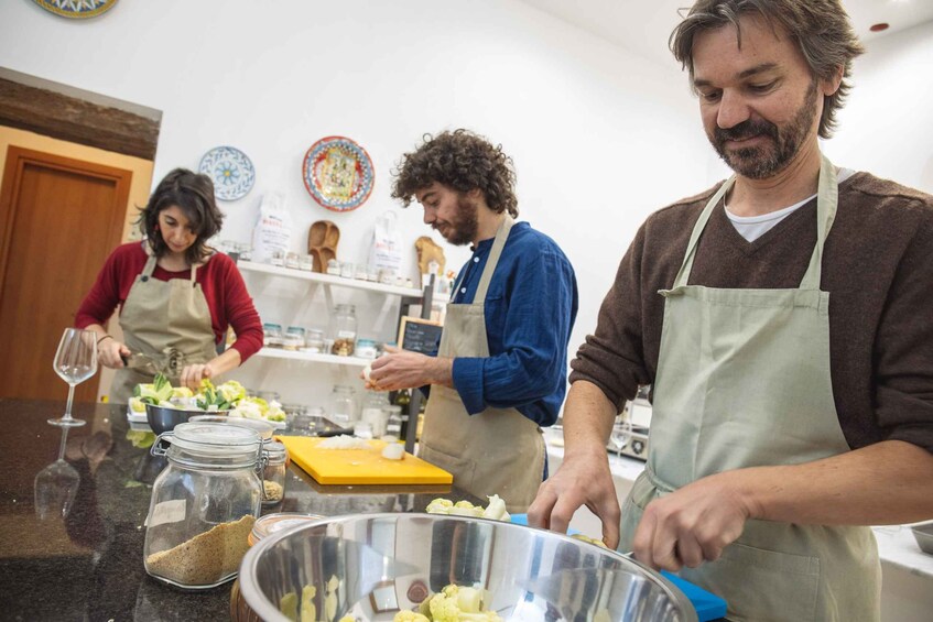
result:
[(836, 112), (851, 89), (851, 62), (865, 52), (839, 0), (697, 0), (671, 33), (671, 52), (690, 69), (692, 83), (694, 36), (731, 24), (741, 46), (739, 18), (748, 13), (758, 13), (771, 28), (780, 25), (788, 31), (816, 78), (829, 80), (843, 67), (839, 88), (823, 99), (820, 135), (828, 139), (836, 129)]

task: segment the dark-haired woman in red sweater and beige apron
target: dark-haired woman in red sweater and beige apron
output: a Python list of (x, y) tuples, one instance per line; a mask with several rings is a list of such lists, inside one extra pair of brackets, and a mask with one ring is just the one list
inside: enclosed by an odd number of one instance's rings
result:
[[(145, 240), (107, 259), (75, 324), (97, 332), (100, 362), (117, 370), (111, 402), (127, 402), (154, 370), (196, 389), (262, 347), (262, 323), (236, 264), (206, 244), (223, 220), (210, 178), (176, 168), (142, 209)], [(118, 305), (122, 343), (104, 328)], [(218, 354), (230, 326), (237, 340)]]

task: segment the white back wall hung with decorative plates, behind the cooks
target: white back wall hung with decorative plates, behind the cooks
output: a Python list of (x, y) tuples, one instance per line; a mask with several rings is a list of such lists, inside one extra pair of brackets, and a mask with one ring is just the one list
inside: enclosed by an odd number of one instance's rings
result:
[[(695, 163), (707, 148), (673, 61), (645, 64), (514, 0), (120, 2), (88, 21), (0, 0), (0, 65), (162, 110), (156, 181), (215, 145), (238, 146), (257, 184), (221, 204), (221, 237), (248, 240), (262, 193), (282, 190), (294, 250), (326, 218), (341, 229), (344, 260), (365, 260), (373, 218), (393, 205), (390, 170), (424, 132), (488, 135), (516, 161), (522, 218), (577, 270), (572, 351), (644, 216), (705, 183)], [(349, 214), (317, 206), (302, 184), (305, 151), (330, 134), (375, 163), (372, 196)], [(406, 243), (430, 233), (421, 216), (402, 211)], [(447, 250), (454, 269), (466, 257)], [(276, 295), (257, 301), (263, 315), (282, 313), (270, 310)]]

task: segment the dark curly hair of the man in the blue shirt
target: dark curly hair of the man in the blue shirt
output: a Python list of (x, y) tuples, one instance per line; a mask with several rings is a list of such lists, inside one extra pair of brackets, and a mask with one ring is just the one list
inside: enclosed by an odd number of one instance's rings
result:
[(518, 217), (516, 170), (512, 159), (502, 153), (502, 145), (492, 145), (469, 130), (424, 134), (424, 144), (402, 155), (392, 171), (395, 183), (392, 197), (408, 207), (417, 190), (434, 182), (460, 193), (479, 189), (486, 205), (497, 212)]

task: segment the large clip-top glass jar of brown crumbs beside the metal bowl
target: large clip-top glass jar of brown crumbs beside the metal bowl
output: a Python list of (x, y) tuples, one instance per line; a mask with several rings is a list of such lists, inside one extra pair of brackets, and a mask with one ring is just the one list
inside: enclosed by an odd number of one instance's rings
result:
[(183, 423), (159, 436), (151, 452), (169, 465), (152, 484), (145, 522), (150, 576), (185, 589), (236, 577), (261, 508), (261, 444), (251, 429), (215, 423)]

